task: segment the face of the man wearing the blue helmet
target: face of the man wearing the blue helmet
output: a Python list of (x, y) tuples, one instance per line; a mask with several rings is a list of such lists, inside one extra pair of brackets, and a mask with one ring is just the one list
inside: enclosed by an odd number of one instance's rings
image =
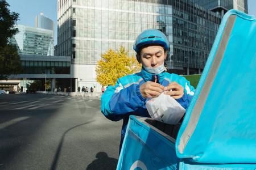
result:
[(141, 63), (144, 67), (158, 67), (164, 63), (166, 59), (164, 48), (160, 45), (151, 45), (141, 50)]

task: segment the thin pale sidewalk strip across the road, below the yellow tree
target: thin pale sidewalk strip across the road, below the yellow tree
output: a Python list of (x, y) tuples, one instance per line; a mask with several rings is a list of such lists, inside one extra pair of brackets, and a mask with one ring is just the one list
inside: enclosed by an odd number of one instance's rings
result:
[(51, 91), (36, 91), (36, 94), (47, 94), (47, 95), (61, 95), (61, 96), (81, 96), (81, 97), (92, 97), (101, 99), (102, 92), (51, 92)]

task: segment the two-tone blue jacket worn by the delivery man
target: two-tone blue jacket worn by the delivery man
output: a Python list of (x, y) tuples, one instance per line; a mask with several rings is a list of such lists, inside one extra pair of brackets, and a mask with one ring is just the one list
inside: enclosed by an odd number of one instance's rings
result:
[(147, 81), (155, 82), (155, 78), (158, 83), (165, 87), (175, 81), (184, 88), (184, 95), (177, 99), (183, 108), (187, 109), (192, 99), (195, 89), (188, 80), (177, 74), (163, 72), (159, 75), (153, 75), (142, 69), (139, 73), (119, 78), (115, 86), (109, 86), (101, 96), (101, 112), (112, 121), (123, 119), (120, 149), (129, 116), (150, 117), (145, 105), (147, 100), (142, 97), (139, 87)]

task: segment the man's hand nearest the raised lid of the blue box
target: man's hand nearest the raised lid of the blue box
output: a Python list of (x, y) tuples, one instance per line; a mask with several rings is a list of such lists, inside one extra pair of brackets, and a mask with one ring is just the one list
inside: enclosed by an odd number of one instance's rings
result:
[(164, 87), (165, 95), (170, 95), (174, 99), (180, 99), (184, 95), (184, 88), (177, 82), (171, 82), (168, 86)]

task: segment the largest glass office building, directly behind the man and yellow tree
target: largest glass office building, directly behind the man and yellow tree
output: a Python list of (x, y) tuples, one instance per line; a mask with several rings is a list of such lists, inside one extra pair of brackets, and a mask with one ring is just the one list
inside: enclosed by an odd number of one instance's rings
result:
[(123, 45), (134, 54), (137, 35), (155, 28), (170, 41), (168, 71), (198, 74), (221, 17), (189, 0), (58, 0), (55, 55), (71, 56), (72, 64), (96, 65), (110, 48)]

